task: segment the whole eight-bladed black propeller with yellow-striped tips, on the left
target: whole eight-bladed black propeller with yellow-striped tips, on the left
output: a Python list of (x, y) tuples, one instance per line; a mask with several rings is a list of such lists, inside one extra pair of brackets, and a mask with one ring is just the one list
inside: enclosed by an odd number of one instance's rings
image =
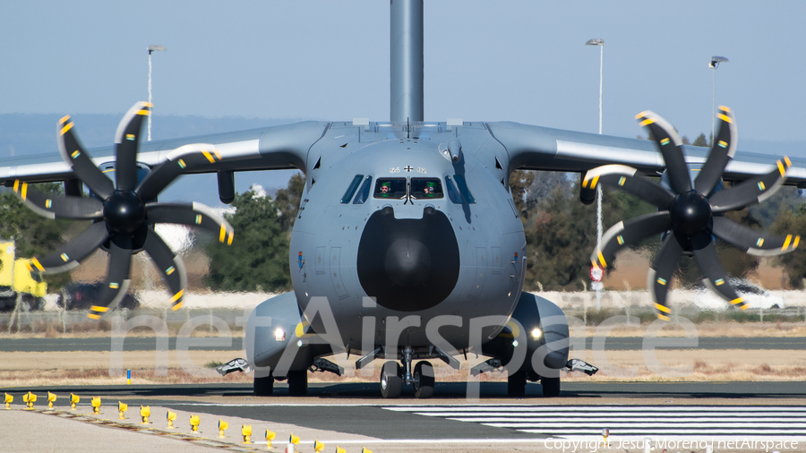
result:
[(210, 144), (185, 145), (171, 151), (167, 160), (154, 168), (138, 184), (137, 150), (143, 119), (150, 115), (151, 104), (136, 103), (124, 115), (115, 133), (115, 183), (104, 175), (81, 146), (70, 116), (59, 120), (56, 131), (62, 158), (73, 173), (98, 199), (81, 196), (56, 196), (32, 189), (28, 183), (14, 181), (13, 190), (31, 209), (47, 218), (92, 220), (92, 225), (56, 252), (30, 259), (29, 269), (39, 272), (64, 272), (103, 247), (109, 252), (107, 278), (97, 305), (88, 316), (98, 320), (116, 307), (131, 282), (132, 255), (144, 250), (154, 261), (171, 291), (172, 309), (182, 306), (187, 278), (182, 260), (154, 231), (155, 223), (198, 226), (215, 233), (219, 241), (232, 244), (234, 231), (227, 220), (200, 203), (159, 203), (157, 195), (187, 169), (210, 165), (221, 160)]

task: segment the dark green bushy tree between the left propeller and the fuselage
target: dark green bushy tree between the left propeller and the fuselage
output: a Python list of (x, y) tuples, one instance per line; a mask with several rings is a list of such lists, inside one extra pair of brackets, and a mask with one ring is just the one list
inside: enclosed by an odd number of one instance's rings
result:
[[(293, 178), (292, 178), (293, 180)], [(289, 183), (289, 187), (290, 187)], [(231, 246), (207, 245), (210, 272), (205, 281), (224, 291), (281, 291), (290, 288), (289, 235), (282, 226), (282, 207), (252, 189), (237, 193), (235, 214), (225, 214), (236, 231)]]

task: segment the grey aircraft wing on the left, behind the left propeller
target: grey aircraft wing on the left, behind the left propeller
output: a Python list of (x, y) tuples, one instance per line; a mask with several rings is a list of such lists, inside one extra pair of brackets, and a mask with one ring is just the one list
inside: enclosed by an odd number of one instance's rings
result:
[[(76, 124), (78, 128), (80, 124)], [(308, 150), (327, 131), (329, 123), (309, 121), (243, 132), (227, 132), (167, 141), (146, 141), (140, 144), (138, 162), (157, 167), (172, 151), (192, 143), (210, 143), (219, 151), (210, 165), (188, 168), (185, 173), (218, 171), (248, 171), (299, 168), (305, 171)], [(78, 132), (81, 133), (80, 131)], [(56, 143), (54, 143), (56, 148)], [(92, 162), (99, 166), (114, 163), (112, 146), (87, 150)], [(71, 167), (58, 154), (0, 159), (0, 183), (6, 186), (14, 180), (27, 183), (64, 181), (75, 177)]]

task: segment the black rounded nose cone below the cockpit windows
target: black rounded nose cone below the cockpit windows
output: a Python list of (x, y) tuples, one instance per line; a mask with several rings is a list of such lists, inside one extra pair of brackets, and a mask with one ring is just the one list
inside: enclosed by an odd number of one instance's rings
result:
[(397, 219), (391, 208), (373, 213), (358, 244), (358, 279), (366, 295), (400, 312), (442, 303), (459, 279), (459, 244), (441, 211)]

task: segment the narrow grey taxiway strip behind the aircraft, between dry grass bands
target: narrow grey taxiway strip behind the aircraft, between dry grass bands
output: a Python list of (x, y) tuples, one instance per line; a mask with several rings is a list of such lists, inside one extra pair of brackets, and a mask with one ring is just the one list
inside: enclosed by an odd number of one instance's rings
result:
[[(222, 341), (227, 341), (222, 338)], [(663, 338), (673, 343), (677, 338)], [(576, 343), (579, 341), (579, 343)], [(574, 347), (581, 347), (581, 338), (572, 338)], [(585, 338), (585, 348), (593, 348), (594, 338)], [(634, 351), (643, 349), (642, 337), (608, 337), (604, 340), (604, 349), (608, 351)], [(193, 338), (190, 338), (193, 344)], [(154, 337), (126, 337), (124, 351), (153, 351), (157, 345)], [(579, 345), (579, 346), (578, 346)], [(0, 339), (0, 352), (69, 352), (69, 351), (109, 351), (112, 338), (3, 338)], [(244, 338), (232, 338), (231, 346), (192, 346), (198, 350), (243, 351)], [(735, 337), (702, 337), (697, 346), (669, 346), (672, 349), (749, 349), (749, 350), (806, 350), (806, 338), (735, 338)], [(176, 349), (176, 337), (168, 338), (168, 350)]]

